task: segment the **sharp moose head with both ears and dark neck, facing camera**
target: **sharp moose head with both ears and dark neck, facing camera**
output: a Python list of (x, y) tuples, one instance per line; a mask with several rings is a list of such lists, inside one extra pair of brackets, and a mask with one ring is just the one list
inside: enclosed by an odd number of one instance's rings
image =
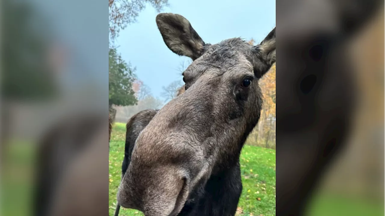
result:
[(117, 193), (146, 216), (234, 215), (242, 191), (239, 155), (258, 123), (258, 85), (275, 63), (275, 28), (256, 46), (241, 38), (205, 43), (178, 14), (160, 13), (167, 47), (188, 56), (186, 91), (139, 133)]

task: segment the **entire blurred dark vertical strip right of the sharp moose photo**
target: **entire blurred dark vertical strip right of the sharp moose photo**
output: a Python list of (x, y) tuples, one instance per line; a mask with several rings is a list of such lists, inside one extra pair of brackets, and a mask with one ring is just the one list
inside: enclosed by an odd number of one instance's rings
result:
[[(277, 216), (385, 215), (385, 119), (373, 106), (384, 98), (383, 12), (376, 0), (277, 1)], [(333, 170), (339, 181), (323, 184)]]

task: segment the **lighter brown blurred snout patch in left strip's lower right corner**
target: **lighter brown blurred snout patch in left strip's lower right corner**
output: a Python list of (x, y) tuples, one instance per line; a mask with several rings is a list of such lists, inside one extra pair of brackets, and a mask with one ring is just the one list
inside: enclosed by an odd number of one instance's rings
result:
[(74, 156), (52, 197), (48, 215), (102, 216), (108, 214), (108, 173), (105, 126), (90, 134), (84, 151)]

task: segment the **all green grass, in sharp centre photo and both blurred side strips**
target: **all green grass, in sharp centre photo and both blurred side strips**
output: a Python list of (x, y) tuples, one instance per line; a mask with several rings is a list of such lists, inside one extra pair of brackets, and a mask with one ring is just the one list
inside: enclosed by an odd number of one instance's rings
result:
[[(121, 176), (125, 126), (114, 126), (109, 159), (109, 215), (113, 215), (116, 192)], [(27, 215), (31, 211), (32, 176), (36, 149), (29, 142), (5, 143), (0, 164), (0, 215)], [(243, 193), (237, 215), (275, 215), (275, 151), (246, 145), (241, 155)], [(250, 171), (252, 169), (252, 171)], [(250, 191), (249, 191), (250, 190)], [(259, 192), (259, 193), (258, 193)], [(258, 201), (258, 198), (261, 198)], [(382, 216), (383, 200), (362, 196), (320, 193), (308, 206), (310, 216)], [(136, 213), (137, 212), (137, 213)], [(143, 215), (133, 209), (121, 208), (120, 215)]]

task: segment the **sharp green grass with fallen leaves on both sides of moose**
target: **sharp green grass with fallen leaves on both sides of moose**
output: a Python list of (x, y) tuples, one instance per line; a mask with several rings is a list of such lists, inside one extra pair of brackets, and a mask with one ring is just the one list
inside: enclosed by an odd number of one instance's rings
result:
[[(116, 193), (121, 180), (121, 166), (126, 136), (125, 124), (115, 123), (110, 141), (109, 215), (115, 211)], [(241, 154), (243, 191), (237, 215), (275, 215), (275, 150), (244, 146)], [(119, 215), (143, 215), (121, 208)]]

